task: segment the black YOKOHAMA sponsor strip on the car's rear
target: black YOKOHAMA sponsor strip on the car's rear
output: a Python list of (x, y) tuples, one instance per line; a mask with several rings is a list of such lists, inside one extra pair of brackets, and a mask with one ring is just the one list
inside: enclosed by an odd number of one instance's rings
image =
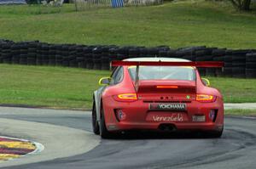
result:
[(186, 110), (186, 104), (149, 104), (150, 110)]

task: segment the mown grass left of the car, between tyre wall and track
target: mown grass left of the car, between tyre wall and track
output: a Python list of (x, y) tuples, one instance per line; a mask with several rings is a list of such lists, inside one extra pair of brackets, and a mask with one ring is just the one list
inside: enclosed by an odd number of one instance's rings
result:
[(90, 109), (98, 79), (109, 71), (0, 65), (0, 104)]

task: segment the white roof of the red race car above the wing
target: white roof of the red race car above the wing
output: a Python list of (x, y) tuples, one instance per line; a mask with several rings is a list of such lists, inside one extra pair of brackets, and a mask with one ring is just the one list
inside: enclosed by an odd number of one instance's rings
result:
[(191, 62), (191, 60), (189, 59), (180, 59), (180, 58), (129, 58), (129, 59), (124, 59), (124, 61)]

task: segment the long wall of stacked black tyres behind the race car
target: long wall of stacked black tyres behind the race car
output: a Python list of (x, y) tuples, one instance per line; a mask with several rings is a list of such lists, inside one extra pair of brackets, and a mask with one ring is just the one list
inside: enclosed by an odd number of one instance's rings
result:
[(0, 40), (0, 63), (4, 64), (53, 65), (109, 70), (109, 63), (112, 60), (136, 57), (224, 61), (224, 70), (201, 68), (201, 74), (205, 76), (256, 77), (255, 49), (230, 50), (205, 46), (172, 49), (166, 46), (145, 48)]

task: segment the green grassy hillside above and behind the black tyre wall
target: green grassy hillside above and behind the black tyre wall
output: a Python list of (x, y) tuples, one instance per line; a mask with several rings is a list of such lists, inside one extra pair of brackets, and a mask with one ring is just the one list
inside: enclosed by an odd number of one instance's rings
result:
[(230, 3), (201, 0), (84, 12), (74, 12), (72, 5), (0, 6), (0, 23), (0, 38), (15, 41), (172, 48), (256, 46), (255, 14), (238, 13)]

